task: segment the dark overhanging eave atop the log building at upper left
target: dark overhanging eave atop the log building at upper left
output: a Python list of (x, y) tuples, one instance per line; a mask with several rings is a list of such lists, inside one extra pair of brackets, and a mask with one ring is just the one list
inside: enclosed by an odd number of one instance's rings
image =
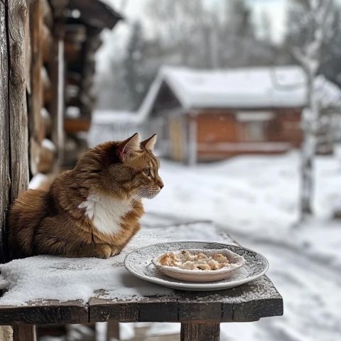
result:
[(67, 9), (80, 11), (80, 18), (94, 28), (114, 28), (123, 17), (112, 7), (99, 0), (69, 0)]

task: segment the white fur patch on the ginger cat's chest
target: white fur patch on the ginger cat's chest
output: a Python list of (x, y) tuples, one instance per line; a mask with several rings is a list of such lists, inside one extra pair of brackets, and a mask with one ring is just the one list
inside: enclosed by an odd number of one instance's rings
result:
[(131, 210), (131, 202), (90, 194), (78, 207), (85, 208), (99, 232), (113, 235), (120, 232), (121, 218)]

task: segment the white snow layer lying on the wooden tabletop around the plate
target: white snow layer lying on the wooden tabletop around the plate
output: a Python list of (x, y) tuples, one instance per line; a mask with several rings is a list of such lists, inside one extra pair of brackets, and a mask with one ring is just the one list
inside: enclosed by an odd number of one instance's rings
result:
[(212, 224), (195, 223), (162, 231), (141, 229), (121, 254), (109, 259), (33, 256), (14, 260), (0, 265), (0, 288), (6, 289), (0, 305), (27, 305), (37, 300), (87, 302), (99, 290), (106, 293), (105, 297), (117, 299), (171, 295), (173, 290), (134, 276), (127, 281), (123, 261), (126, 254), (140, 247), (185, 239), (232, 242)]

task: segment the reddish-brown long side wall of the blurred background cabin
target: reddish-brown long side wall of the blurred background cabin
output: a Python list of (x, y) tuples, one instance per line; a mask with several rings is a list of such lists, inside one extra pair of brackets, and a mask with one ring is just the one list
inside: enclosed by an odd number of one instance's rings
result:
[[(243, 111), (251, 112), (240, 110)], [(247, 139), (247, 122), (238, 121), (237, 110), (200, 110), (196, 115), (197, 159), (213, 161), (242, 153), (280, 153), (301, 145), (301, 109), (259, 111), (272, 112), (274, 118), (264, 121), (264, 139), (251, 141)]]

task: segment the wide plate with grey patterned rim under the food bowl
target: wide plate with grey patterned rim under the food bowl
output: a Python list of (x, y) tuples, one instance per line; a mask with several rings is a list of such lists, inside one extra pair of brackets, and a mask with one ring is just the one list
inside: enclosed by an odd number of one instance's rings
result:
[[(184, 249), (207, 249), (221, 250), (229, 249), (232, 252), (243, 256), (246, 264), (237, 269), (232, 276), (222, 281), (195, 283), (179, 281), (175, 278), (161, 274), (151, 262), (156, 256), (169, 251)], [(241, 286), (244, 283), (254, 281), (263, 276), (269, 268), (267, 259), (256, 251), (239, 247), (237, 245), (222, 244), (216, 242), (168, 242), (153, 244), (142, 247), (126, 255), (124, 259), (126, 269), (136, 277), (152, 283), (167, 286), (168, 288), (189, 290), (189, 291), (215, 291)]]

